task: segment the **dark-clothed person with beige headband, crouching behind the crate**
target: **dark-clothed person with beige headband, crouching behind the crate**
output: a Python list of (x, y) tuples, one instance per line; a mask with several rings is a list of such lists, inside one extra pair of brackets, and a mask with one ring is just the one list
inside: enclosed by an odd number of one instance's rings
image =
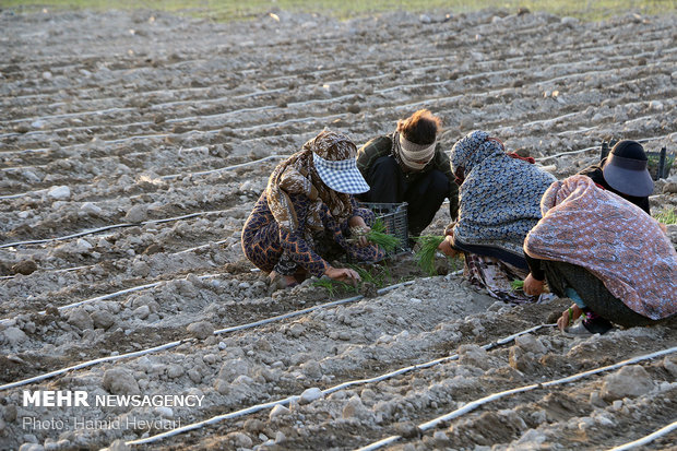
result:
[(449, 214), (456, 217), (459, 189), (438, 134), (440, 119), (427, 109), (397, 121), (397, 129), (377, 137), (357, 151), (357, 168), (371, 189), (365, 202), (407, 202), (409, 235), (417, 237), (449, 198)]

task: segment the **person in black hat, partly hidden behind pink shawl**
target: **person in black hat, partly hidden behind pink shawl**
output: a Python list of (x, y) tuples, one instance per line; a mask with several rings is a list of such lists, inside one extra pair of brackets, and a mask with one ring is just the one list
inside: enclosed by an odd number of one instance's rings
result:
[(586, 167), (579, 174), (651, 214), (649, 195), (653, 193), (653, 179), (646, 169), (648, 159), (642, 144), (623, 140), (616, 143), (598, 165)]

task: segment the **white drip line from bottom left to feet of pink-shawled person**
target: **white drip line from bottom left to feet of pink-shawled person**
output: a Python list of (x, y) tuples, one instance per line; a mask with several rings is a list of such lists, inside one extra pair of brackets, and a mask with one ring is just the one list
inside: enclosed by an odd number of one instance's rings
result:
[[(390, 287), (387, 287), (387, 288), (390, 288)], [(383, 288), (383, 289), (387, 289), (387, 288)], [(525, 331), (518, 332), (515, 334), (507, 336), (504, 339), (498, 340), (497, 342), (489, 343), (489, 344), (487, 344), (487, 345), (485, 345), (483, 347), (485, 347), (485, 348), (487, 348), (487, 346), (495, 347), (495, 346), (498, 346), (500, 344), (510, 343), (511, 341), (513, 341), (519, 335), (531, 333), (531, 332), (536, 331), (536, 330), (538, 330), (541, 328), (553, 327), (553, 325), (555, 325), (555, 324), (537, 325), (535, 328), (531, 328), (531, 329), (527, 329)], [(428, 361), (426, 364), (413, 365), (411, 367), (401, 368), (399, 370), (391, 371), (391, 372), (388, 372), (385, 375), (378, 376), (376, 378), (359, 379), (359, 380), (353, 380), (353, 381), (344, 382), (344, 383), (341, 383), (339, 385), (331, 387), (329, 389), (322, 390), (322, 394), (323, 395), (328, 395), (328, 394), (333, 393), (335, 391), (343, 390), (343, 389), (345, 389), (347, 387), (352, 387), (352, 385), (356, 385), (356, 384), (366, 384), (366, 383), (370, 383), (370, 382), (379, 382), (379, 381), (382, 381), (382, 380), (385, 380), (385, 379), (390, 379), (390, 378), (393, 378), (395, 376), (399, 376), (399, 375), (402, 375), (402, 373), (405, 373), (405, 372), (408, 372), (408, 371), (413, 371), (413, 370), (421, 369), (421, 368), (428, 368), (428, 367), (431, 367), (433, 365), (438, 365), (440, 363), (448, 361), (448, 360), (455, 360), (458, 358), (459, 358), (459, 355), (454, 354), (453, 356), (438, 358), (438, 359)], [(294, 401), (298, 401), (299, 399), (300, 399), (300, 395), (295, 394), (295, 395), (287, 396), (287, 397), (282, 399), (282, 400), (271, 401), (271, 402), (263, 403), (263, 404), (252, 405), (250, 407), (242, 408), (240, 411), (230, 412), (230, 413), (223, 414), (223, 415), (216, 415), (216, 416), (214, 416), (212, 418), (207, 418), (207, 419), (204, 419), (204, 420), (198, 422), (198, 423), (192, 423), (190, 425), (186, 425), (186, 426), (182, 426), (182, 427), (179, 427), (179, 428), (176, 428), (176, 429), (171, 429), (171, 430), (168, 430), (166, 432), (157, 434), (155, 436), (151, 436), (151, 437), (146, 437), (146, 438), (138, 439), (138, 440), (128, 441), (128, 442), (126, 442), (126, 444), (133, 446), (133, 444), (152, 443), (152, 442), (159, 441), (159, 440), (163, 440), (163, 439), (168, 438), (168, 437), (174, 437), (174, 436), (178, 436), (179, 434), (188, 432), (190, 430), (200, 429), (200, 428), (202, 428), (204, 426), (213, 425), (213, 424), (222, 422), (224, 419), (230, 419), (230, 418), (237, 418), (237, 417), (246, 416), (246, 415), (253, 414), (253, 413), (257, 413), (257, 412), (260, 412), (260, 411), (264, 411), (264, 410), (268, 410), (268, 408), (275, 407), (276, 405), (287, 405), (287, 404), (289, 404), (289, 403), (292, 403)]]

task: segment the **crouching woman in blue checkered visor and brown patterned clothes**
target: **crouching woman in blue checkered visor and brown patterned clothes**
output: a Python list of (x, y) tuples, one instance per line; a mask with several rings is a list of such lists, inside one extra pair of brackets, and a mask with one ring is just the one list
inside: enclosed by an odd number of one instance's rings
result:
[[(271, 281), (294, 286), (307, 275), (325, 274), (356, 283), (357, 272), (328, 260), (347, 254), (375, 262), (384, 257), (364, 237), (373, 213), (353, 198), (369, 189), (355, 166), (356, 152), (347, 137), (325, 130), (271, 175), (242, 229), (245, 256), (269, 272)], [(348, 241), (351, 229), (359, 230), (360, 238)]]

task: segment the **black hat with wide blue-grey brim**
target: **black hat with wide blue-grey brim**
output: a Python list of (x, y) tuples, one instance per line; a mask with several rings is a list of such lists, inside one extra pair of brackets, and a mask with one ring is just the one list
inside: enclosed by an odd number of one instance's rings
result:
[(646, 169), (646, 153), (637, 141), (618, 142), (606, 158), (602, 173), (609, 187), (626, 195), (644, 198), (653, 192)]

